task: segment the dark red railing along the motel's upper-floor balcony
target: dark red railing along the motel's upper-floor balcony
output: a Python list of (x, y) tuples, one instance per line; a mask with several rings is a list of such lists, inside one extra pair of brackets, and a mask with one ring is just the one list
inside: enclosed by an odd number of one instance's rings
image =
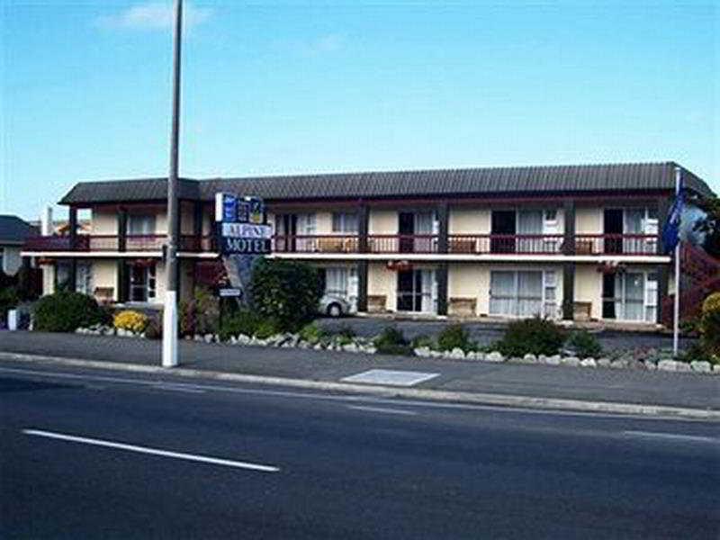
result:
[[(165, 235), (78, 235), (71, 247), (67, 236), (28, 238), (26, 251), (161, 251)], [(447, 253), (451, 255), (655, 255), (658, 252), (656, 235), (640, 234), (579, 234), (574, 248), (566, 245), (563, 235), (548, 234), (451, 234), (447, 238)], [(363, 249), (358, 235), (285, 235), (273, 238), (273, 250), (286, 253), (374, 253), (401, 255), (403, 253), (440, 253), (440, 238), (434, 234), (373, 234), (368, 235)], [(215, 250), (211, 236), (183, 235), (178, 250), (203, 253)]]

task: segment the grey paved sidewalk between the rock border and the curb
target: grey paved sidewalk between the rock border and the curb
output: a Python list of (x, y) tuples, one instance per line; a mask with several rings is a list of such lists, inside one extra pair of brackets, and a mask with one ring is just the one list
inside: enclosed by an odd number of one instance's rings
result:
[[(135, 338), (2, 332), (0, 352), (157, 366), (160, 343)], [(180, 358), (183, 367), (208, 373), (343, 383), (347, 376), (388, 369), (437, 374), (414, 385), (414, 389), (720, 411), (720, 377), (715, 375), (491, 364), (189, 341), (182, 342)]]

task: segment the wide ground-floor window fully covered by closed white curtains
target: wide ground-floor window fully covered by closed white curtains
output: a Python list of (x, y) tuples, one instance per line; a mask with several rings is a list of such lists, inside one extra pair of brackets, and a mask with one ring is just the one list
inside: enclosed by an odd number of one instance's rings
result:
[(553, 319), (557, 316), (554, 270), (493, 270), (490, 281), (491, 315)]

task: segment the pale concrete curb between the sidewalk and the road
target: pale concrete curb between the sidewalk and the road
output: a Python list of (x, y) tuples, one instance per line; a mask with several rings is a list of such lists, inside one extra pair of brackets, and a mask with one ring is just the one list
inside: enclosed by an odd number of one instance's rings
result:
[(643, 405), (613, 401), (582, 401), (562, 398), (537, 398), (530, 396), (504, 395), (474, 392), (447, 392), (442, 390), (394, 388), (376, 384), (330, 383), (290, 379), (284, 377), (266, 377), (262, 375), (229, 374), (224, 372), (188, 369), (184, 367), (165, 368), (155, 365), (122, 364), (58, 356), (23, 355), (0, 352), (0, 361), (26, 362), (72, 367), (96, 368), (113, 371), (134, 372), (140, 374), (172, 374), (178, 377), (212, 379), (233, 383), (265, 384), (317, 390), (324, 392), (347, 392), (374, 395), (383, 398), (407, 398), (426, 401), (445, 401), (473, 405), (492, 405), (518, 409), (569, 410), (574, 412), (602, 412), (624, 415), (664, 417), (671, 419), (720, 420), (720, 410), (692, 409), (666, 405)]

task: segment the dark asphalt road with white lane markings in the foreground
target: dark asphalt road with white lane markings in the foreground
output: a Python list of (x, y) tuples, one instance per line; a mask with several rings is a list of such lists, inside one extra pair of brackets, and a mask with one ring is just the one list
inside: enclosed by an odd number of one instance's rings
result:
[(3, 538), (720, 535), (716, 423), (34, 370), (0, 366)]

